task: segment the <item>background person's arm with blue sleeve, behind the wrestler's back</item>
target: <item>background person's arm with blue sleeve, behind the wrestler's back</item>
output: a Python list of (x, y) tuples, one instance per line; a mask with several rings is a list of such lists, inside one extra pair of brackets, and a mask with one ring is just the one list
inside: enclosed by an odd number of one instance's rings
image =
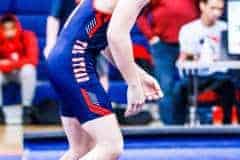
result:
[(60, 30), (59, 16), (60, 16), (61, 7), (62, 7), (62, 0), (52, 1), (52, 8), (50, 11), (50, 15), (47, 18), (46, 46), (44, 49), (45, 57), (48, 57), (58, 37), (58, 32)]

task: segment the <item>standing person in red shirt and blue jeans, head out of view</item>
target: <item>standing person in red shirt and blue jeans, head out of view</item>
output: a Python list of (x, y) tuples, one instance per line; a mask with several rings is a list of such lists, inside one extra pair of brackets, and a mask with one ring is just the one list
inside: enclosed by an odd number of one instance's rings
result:
[(184, 24), (198, 17), (197, 0), (152, 0), (137, 22), (150, 42), (155, 76), (165, 93), (159, 102), (160, 117), (165, 124), (173, 124), (178, 34)]

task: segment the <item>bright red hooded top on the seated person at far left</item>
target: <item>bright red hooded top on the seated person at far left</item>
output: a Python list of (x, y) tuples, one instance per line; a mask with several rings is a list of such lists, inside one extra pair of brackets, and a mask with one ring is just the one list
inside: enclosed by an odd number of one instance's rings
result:
[[(14, 16), (13, 16), (14, 17)], [(10, 63), (0, 63), (0, 71), (11, 72), (20, 69), (25, 64), (34, 66), (38, 63), (38, 42), (35, 34), (23, 30), (16, 17), (17, 34), (13, 39), (6, 39), (3, 36), (0, 25), (0, 62), (9, 60)]]

